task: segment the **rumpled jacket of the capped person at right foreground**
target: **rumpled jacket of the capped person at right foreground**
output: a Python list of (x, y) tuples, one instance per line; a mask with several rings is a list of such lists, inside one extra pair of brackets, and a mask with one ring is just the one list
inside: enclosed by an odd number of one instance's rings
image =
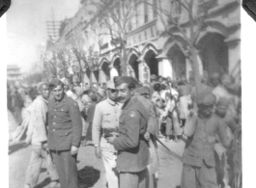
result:
[(227, 135), (225, 122), (215, 114), (208, 119), (204, 119), (199, 115), (188, 117), (184, 131), (187, 140), (183, 162), (186, 165), (201, 167), (205, 162), (208, 166), (214, 167), (216, 135), (224, 147), (228, 147), (231, 143), (231, 139)]

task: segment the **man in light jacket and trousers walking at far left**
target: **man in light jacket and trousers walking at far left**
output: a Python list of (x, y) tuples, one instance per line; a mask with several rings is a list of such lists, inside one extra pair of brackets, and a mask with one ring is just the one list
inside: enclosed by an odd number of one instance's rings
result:
[(49, 187), (58, 185), (58, 175), (55, 167), (52, 164), (51, 157), (46, 149), (47, 130), (46, 130), (46, 113), (47, 113), (47, 98), (49, 97), (49, 86), (42, 82), (38, 85), (39, 96), (28, 107), (26, 118), (27, 121), (27, 139), (26, 142), (32, 145), (32, 154), (29, 166), (26, 173), (25, 188), (33, 188), (36, 186), (43, 158), (46, 159), (47, 170), (52, 182)]

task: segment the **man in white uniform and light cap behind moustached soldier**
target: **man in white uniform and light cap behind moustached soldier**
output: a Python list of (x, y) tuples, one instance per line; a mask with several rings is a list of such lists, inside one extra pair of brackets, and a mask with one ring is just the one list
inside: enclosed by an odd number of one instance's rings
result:
[[(106, 142), (106, 138), (118, 133), (121, 104), (117, 103), (118, 91), (114, 82), (106, 83), (107, 95), (105, 100), (96, 105), (93, 121), (93, 144), (95, 154), (102, 158), (108, 187), (118, 187), (118, 173), (116, 171), (117, 150)], [(102, 134), (100, 132), (102, 130)], [(100, 138), (100, 135), (101, 138)]]

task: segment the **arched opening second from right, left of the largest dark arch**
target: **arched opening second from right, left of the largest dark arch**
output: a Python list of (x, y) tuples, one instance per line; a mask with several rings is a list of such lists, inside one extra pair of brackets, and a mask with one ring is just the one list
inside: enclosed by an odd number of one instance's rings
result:
[(172, 60), (173, 78), (177, 80), (182, 76), (186, 76), (185, 55), (180, 48), (174, 45), (169, 49), (167, 56)]

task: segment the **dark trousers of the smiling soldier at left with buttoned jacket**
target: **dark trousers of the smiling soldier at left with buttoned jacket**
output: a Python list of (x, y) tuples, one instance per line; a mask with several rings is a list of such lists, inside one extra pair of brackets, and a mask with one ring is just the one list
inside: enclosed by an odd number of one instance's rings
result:
[(78, 188), (76, 155), (71, 150), (50, 150), (62, 188)]

